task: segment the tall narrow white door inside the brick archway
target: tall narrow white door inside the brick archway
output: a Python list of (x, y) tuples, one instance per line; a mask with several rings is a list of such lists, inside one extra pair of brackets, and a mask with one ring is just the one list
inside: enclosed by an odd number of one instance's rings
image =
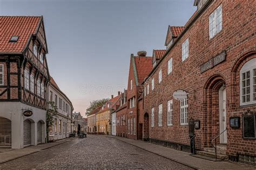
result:
[[(220, 99), (220, 133), (227, 128), (227, 112), (226, 112), (226, 89), (221, 88), (219, 91)], [(227, 143), (227, 131), (220, 135), (220, 143)]]

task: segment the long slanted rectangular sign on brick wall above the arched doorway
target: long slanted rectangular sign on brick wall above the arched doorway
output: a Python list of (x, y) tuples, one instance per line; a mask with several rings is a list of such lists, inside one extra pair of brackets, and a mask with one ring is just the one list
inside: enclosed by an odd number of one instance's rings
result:
[(200, 72), (203, 73), (208, 69), (213, 68), (214, 66), (217, 66), (219, 63), (226, 60), (226, 51), (221, 52), (220, 54), (214, 56), (210, 60), (203, 63), (203, 65), (200, 66)]

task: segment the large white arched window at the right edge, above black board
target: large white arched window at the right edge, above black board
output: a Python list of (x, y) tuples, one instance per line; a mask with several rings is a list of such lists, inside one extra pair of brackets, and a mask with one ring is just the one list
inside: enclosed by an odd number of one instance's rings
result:
[(256, 103), (256, 59), (247, 61), (240, 70), (240, 105)]

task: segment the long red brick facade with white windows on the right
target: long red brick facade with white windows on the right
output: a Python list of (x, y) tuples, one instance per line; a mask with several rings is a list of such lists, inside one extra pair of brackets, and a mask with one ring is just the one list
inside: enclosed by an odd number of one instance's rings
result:
[[(222, 30), (209, 38), (208, 17), (222, 5)], [(256, 156), (256, 140), (242, 137), (242, 115), (255, 114), (256, 105), (240, 106), (240, 69), (247, 61), (256, 58), (255, 54), (255, 8), (251, 1), (208, 1), (186, 24), (180, 36), (149, 74), (150, 93), (144, 97), (144, 114), (149, 115), (154, 108), (154, 127), (149, 127), (149, 138), (177, 144), (182, 149), (189, 147), (188, 125), (180, 123), (180, 101), (173, 99), (175, 90), (188, 92), (188, 120), (200, 121), (196, 129), (196, 148), (211, 147), (211, 141), (220, 133), (219, 91), (226, 89), (227, 154)], [(188, 39), (188, 58), (181, 61), (182, 44)], [(226, 52), (224, 62), (201, 72), (201, 66), (214, 56)], [(167, 74), (167, 62), (172, 58), (172, 72)], [(255, 67), (256, 67), (256, 63)], [(161, 69), (162, 81), (158, 83)], [(172, 125), (167, 125), (167, 101), (173, 100)], [(158, 126), (158, 106), (163, 104), (163, 125)], [(240, 117), (240, 128), (230, 127), (230, 117)], [(142, 120), (142, 118), (140, 118)], [(141, 122), (141, 121), (140, 121)], [(219, 143), (219, 141), (218, 141)], [(180, 147), (181, 146), (181, 147)]]

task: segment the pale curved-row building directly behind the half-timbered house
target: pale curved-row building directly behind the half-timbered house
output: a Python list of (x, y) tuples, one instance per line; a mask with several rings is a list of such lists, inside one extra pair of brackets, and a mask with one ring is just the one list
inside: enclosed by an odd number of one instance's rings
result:
[[(51, 77), (48, 87), (48, 101), (54, 102), (58, 108), (57, 115), (50, 127), (49, 139), (58, 140), (69, 137), (72, 122), (73, 106), (69, 98), (59, 89), (57, 83)], [(49, 104), (49, 108), (51, 105)]]

